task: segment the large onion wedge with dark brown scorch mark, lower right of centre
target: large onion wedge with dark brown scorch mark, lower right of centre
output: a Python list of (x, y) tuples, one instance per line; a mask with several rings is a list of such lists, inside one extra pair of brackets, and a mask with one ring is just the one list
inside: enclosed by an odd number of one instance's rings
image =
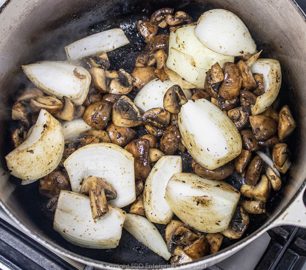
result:
[(208, 233), (228, 227), (239, 198), (240, 192), (230, 184), (190, 173), (173, 174), (165, 194), (167, 203), (181, 221)]

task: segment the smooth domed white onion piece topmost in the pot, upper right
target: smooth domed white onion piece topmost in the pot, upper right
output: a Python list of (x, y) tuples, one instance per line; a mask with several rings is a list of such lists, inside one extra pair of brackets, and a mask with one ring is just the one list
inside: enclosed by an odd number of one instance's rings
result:
[(256, 44), (243, 21), (225, 9), (204, 12), (194, 33), (204, 46), (219, 54), (239, 56), (256, 52)]

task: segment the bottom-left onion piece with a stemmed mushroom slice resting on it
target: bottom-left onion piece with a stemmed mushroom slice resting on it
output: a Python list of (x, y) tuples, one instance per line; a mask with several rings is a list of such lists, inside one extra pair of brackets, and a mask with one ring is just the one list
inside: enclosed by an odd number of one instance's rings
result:
[(98, 219), (91, 216), (89, 197), (62, 190), (57, 202), (53, 228), (77, 246), (115, 248), (121, 238), (125, 211), (108, 204), (109, 212)]

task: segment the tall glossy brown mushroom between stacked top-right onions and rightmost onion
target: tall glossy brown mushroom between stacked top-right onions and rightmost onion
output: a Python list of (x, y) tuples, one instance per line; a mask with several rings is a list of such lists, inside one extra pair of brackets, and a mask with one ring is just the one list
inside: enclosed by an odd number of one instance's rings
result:
[(223, 64), (224, 81), (219, 87), (219, 96), (224, 99), (234, 99), (240, 95), (242, 76), (236, 64), (226, 62)]

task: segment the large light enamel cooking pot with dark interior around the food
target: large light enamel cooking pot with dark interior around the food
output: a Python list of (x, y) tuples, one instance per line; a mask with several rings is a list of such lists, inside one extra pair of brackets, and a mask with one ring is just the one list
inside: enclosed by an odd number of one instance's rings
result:
[[(228, 9), (247, 25), (263, 56), (278, 59), (282, 67), (283, 89), (280, 103), (289, 103), (297, 120), (297, 129), (289, 142), (292, 152), (290, 173), (285, 175), (281, 189), (271, 194), (267, 213), (251, 221), (248, 235), (242, 240), (228, 241), (227, 247), (215, 254), (179, 266), (205, 268), (222, 261), (279, 225), (306, 227), (303, 194), (306, 188), (306, 17), (295, 1), (289, 0), (11, 0), (0, 14), (0, 200), (9, 216), (28, 234), (52, 251), (97, 268), (166, 267), (166, 262), (146, 247), (136, 247), (136, 240), (125, 233), (119, 247), (113, 250), (92, 250), (74, 246), (52, 229), (52, 221), (43, 217), (45, 203), (37, 191), (37, 182), (20, 186), (10, 177), (4, 156), (10, 151), (10, 110), (14, 93), (27, 86), (21, 64), (39, 60), (63, 60), (63, 47), (92, 33), (114, 27), (122, 28), (131, 43), (114, 52), (112, 63), (120, 68), (125, 62), (131, 71), (133, 56), (143, 46), (135, 39), (135, 22), (161, 7), (174, 7), (200, 16), (211, 8)], [(127, 51), (125, 51), (127, 50)], [(116, 66), (117, 65), (117, 66)], [(36, 187), (35, 187), (36, 185)], [(162, 226), (159, 229), (163, 229)], [(129, 263), (129, 265), (127, 265)], [(130, 263), (133, 263), (132, 265)], [(121, 264), (118, 266), (118, 264)], [(153, 265), (154, 264), (154, 265)]]

